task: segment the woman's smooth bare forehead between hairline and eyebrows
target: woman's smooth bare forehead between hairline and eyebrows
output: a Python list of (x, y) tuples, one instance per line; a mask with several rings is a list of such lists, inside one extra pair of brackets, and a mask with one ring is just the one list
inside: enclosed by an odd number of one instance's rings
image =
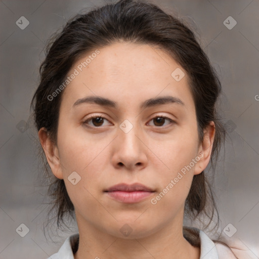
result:
[[(174, 71), (184, 74), (180, 81), (172, 76)], [(193, 102), (186, 71), (164, 51), (146, 44), (122, 42), (93, 50), (74, 63), (68, 76), (72, 73), (76, 76), (62, 98), (70, 107), (90, 95), (116, 100), (119, 105), (143, 103), (159, 95), (184, 99), (187, 107)]]

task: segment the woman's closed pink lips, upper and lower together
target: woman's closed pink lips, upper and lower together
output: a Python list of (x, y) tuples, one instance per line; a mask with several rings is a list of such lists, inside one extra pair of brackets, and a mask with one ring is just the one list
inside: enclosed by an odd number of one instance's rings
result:
[(117, 184), (104, 191), (110, 198), (123, 203), (140, 202), (155, 191), (146, 187), (145, 185), (136, 184)]

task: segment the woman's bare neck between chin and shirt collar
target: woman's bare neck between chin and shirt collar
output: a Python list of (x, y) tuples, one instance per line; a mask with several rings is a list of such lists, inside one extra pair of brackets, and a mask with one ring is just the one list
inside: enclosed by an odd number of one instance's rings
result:
[(75, 259), (200, 258), (200, 248), (184, 238), (181, 220), (141, 238), (120, 238), (82, 222), (77, 218), (79, 246)]

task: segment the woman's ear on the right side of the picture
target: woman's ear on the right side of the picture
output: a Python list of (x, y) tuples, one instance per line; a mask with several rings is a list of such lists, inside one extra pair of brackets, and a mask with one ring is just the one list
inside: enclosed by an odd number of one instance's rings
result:
[(197, 156), (200, 157), (200, 160), (197, 161), (194, 169), (194, 175), (200, 174), (208, 165), (212, 145), (215, 137), (215, 123), (210, 121), (209, 125), (204, 130), (204, 137), (202, 143), (199, 145)]

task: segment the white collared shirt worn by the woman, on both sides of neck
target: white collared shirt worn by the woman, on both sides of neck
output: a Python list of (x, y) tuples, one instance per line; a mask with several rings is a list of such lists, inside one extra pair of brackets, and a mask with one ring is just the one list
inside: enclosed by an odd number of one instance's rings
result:
[[(188, 227), (192, 228), (192, 227)], [(195, 229), (195, 228), (192, 228)], [(198, 230), (198, 229), (196, 229)], [(232, 259), (236, 258), (233, 253), (222, 244), (215, 244), (202, 230), (199, 231), (200, 237), (200, 259)], [(69, 236), (59, 251), (48, 259), (74, 259), (72, 247), (78, 241), (79, 234)]]

